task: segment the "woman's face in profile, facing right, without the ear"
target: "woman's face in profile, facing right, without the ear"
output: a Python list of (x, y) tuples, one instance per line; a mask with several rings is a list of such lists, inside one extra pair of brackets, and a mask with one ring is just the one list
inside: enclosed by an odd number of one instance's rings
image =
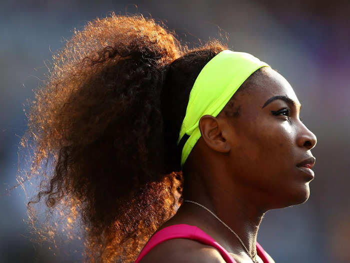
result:
[(225, 117), (230, 128), (222, 135), (230, 144), (226, 165), (234, 181), (271, 209), (307, 200), (313, 174), (298, 164), (312, 157), (316, 137), (300, 121), (300, 102), (289, 83), (270, 68), (263, 72), (236, 93), (239, 117)]

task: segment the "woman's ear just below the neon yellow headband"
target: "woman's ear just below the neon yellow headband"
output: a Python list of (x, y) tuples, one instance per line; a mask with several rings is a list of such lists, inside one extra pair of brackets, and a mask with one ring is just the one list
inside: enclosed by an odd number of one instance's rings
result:
[(229, 152), (231, 146), (222, 133), (222, 120), (211, 115), (204, 115), (199, 119), (200, 134), (206, 145), (217, 152)]

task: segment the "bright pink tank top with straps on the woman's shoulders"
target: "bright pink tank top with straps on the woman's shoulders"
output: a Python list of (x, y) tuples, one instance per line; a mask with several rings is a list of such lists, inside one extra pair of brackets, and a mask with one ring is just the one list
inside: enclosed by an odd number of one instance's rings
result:
[[(217, 243), (211, 236), (209, 236), (207, 233), (195, 225), (189, 224), (174, 224), (160, 229), (148, 240), (134, 263), (138, 263), (139, 260), (141, 260), (141, 258), (157, 244), (173, 238), (187, 238), (199, 241), (200, 243), (206, 245), (211, 245), (220, 252), (222, 258), (226, 261), (226, 263), (236, 263), (236, 261), (227, 252), (227, 250), (224, 249), (219, 243)], [(263, 250), (263, 248), (257, 242), (256, 252), (264, 263), (272, 263), (268, 260), (268, 256), (265, 250)]]

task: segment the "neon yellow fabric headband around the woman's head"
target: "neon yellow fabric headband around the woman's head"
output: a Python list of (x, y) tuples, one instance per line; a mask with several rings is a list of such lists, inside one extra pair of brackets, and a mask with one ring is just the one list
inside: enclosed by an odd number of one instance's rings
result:
[(182, 146), (181, 167), (200, 138), (199, 119), (216, 117), (239, 86), (257, 69), (269, 67), (248, 53), (221, 51), (200, 71), (196, 78), (182, 121), (177, 145)]

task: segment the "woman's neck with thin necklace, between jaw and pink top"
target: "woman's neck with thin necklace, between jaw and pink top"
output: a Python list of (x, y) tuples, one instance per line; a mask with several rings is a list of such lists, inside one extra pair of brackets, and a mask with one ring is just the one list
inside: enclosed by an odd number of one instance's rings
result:
[[(187, 174), (187, 180), (186, 176), (184, 177), (183, 199), (195, 201), (213, 212), (240, 237), (249, 255), (254, 255), (256, 236), (264, 211), (251, 202), (251, 198), (246, 198), (249, 193), (246, 190), (242, 191), (234, 184), (220, 182), (219, 178), (224, 176), (206, 177), (192, 173), (190, 176)], [(205, 182), (203, 178), (214, 178), (215, 183)], [(178, 213), (196, 220), (194, 223), (206, 228), (202, 230), (211, 235), (227, 251), (237, 255), (246, 254), (237, 237), (204, 208), (194, 203), (183, 202)]]

